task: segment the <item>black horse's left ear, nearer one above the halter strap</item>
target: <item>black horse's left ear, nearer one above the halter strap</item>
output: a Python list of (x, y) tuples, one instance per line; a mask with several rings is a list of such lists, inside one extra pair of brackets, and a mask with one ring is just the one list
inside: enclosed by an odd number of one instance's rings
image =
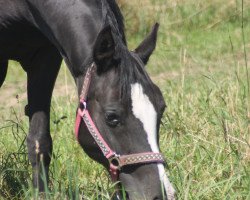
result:
[(97, 65), (97, 72), (105, 72), (111, 66), (115, 53), (115, 43), (111, 27), (106, 26), (97, 36), (94, 44), (93, 59)]

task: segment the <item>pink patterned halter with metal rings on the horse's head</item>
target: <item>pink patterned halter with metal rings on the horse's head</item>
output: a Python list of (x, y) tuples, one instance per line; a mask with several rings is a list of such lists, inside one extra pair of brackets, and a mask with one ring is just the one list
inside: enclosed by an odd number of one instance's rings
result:
[(136, 165), (136, 164), (149, 164), (149, 163), (164, 163), (164, 158), (160, 153), (154, 152), (144, 152), (129, 155), (118, 155), (114, 152), (109, 145), (105, 142), (99, 130), (95, 126), (89, 111), (87, 109), (87, 95), (91, 82), (91, 76), (95, 70), (96, 65), (93, 63), (87, 70), (84, 78), (82, 91), (80, 95), (80, 103), (77, 111), (76, 122), (75, 122), (75, 135), (78, 139), (79, 128), (82, 120), (84, 121), (86, 127), (88, 128), (91, 136), (94, 138), (96, 144), (101, 149), (103, 155), (109, 161), (109, 172), (112, 181), (118, 181), (119, 171), (122, 167), (126, 165)]

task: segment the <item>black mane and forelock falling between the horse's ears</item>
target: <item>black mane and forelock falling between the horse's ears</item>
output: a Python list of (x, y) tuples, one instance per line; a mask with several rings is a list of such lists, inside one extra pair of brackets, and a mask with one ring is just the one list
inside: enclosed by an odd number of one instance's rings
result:
[[(111, 26), (115, 35), (116, 58), (119, 59), (119, 67), (116, 68), (118, 71), (118, 82), (120, 85), (120, 98), (122, 101), (128, 101), (130, 99), (130, 85), (131, 83), (140, 82), (143, 85), (148, 85), (150, 78), (145, 72), (142, 61), (136, 56), (135, 53), (128, 51), (125, 31), (124, 31), (124, 18), (118, 7), (116, 0), (102, 0), (104, 6), (103, 18)], [(121, 40), (118, 39), (121, 38)], [(151, 88), (151, 86), (147, 87)]]

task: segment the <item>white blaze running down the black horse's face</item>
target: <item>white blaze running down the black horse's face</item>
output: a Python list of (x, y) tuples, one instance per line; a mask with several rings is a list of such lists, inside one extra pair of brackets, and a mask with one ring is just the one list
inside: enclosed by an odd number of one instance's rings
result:
[[(139, 83), (131, 85), (132, 111), (134, 116), (141, 121), (147, 133), (148, 143), (153, 152), (159, 153), (157, 145), (157, 113), (148, 96), (143, 93), (143, 88)], [(168, 199), (174, 199), (174, 188), (172, 187), (163, 164), (157, 164), (159, 177), (164, 185)]]

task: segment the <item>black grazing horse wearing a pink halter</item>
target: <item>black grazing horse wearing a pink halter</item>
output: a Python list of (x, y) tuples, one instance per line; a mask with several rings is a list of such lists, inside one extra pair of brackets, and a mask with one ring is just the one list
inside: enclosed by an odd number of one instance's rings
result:
[[(78, 89), (76, 136), (127, 199), (174, 199), (159, 153), (165, 102), (145, 71), (158, 24), (129, 51), (115, 0), (0, 0), (0, 86), (8, 60), (27, 73), (28, 156), (44, 191), (52, 155), (50, 103), (62, 62)], [(117, 196), (119, 198), (119, 196)]]

